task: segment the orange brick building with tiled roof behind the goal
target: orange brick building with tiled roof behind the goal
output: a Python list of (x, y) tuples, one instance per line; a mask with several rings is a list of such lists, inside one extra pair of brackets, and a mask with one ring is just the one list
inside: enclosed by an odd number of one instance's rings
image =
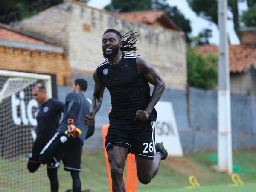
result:
[(56, 74), (57, 85), (69, 79), (68, 56), (47, 38), (0, 23), (0, 69)]

